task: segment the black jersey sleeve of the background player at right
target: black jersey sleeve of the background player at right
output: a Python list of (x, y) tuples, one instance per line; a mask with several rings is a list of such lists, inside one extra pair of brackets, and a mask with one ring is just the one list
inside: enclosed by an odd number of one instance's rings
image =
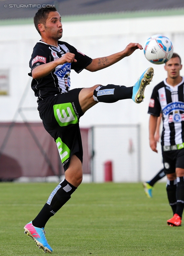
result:
[(160, 116), (161, 114), (161, 104), (159, 102), (159, 94), (156, 87), (153, 89), (153, 92), (151, 95), (148, 114), (151, 114), (153, 116)]

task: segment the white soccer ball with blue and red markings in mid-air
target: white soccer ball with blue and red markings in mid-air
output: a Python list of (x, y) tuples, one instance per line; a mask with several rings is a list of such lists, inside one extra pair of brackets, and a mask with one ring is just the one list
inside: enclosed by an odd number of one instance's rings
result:
[(154, 64), (166, 63), (173, 54), (170, 39), (163, 35), (154, 35), (147, 39), (144, 46), (144, 55), (149, 62)]

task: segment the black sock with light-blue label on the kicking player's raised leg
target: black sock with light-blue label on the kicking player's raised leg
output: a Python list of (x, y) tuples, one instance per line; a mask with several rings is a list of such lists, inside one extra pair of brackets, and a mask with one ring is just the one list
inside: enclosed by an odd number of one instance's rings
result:
[(107, 86), (98, 86), (93, 92), (93, 98), (99, 102), (113, 103), (118, 100), (132, 98), (133, 86), (108, 84)]

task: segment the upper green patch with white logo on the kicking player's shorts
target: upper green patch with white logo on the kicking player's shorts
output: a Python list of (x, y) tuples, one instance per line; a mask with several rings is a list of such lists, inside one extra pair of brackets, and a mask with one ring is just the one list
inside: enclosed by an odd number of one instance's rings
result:
[(78, 118), (74, 112), (72, 104), (63, 103), (53, 106), (54, 116), (60, 126), (67, 126), (69, 124), (77, 124)]

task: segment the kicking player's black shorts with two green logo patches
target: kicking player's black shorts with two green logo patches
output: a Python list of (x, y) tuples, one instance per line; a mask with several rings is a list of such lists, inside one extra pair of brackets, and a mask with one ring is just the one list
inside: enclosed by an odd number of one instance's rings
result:
[(45, 130), (54, 138), (63, 168), (66, 171), (75, 154), (82, 162), (82, 140), (79, 118), (84, 114), (78, 94), (82, 88), (49, 96), (38, 104), (38, 111)]

